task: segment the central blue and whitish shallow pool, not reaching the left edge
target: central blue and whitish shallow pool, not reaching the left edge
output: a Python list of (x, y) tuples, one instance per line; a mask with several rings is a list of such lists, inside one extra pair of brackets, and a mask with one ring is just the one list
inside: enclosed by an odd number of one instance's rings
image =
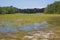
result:
[(48, 27), (48, 23), (46, 21), (43, 21), (41, 23), (31, 23), (28, 25), (23, 25), (22, 27), (20, 27), (20, 29), (22, 30), (40, 30), (40, 29), (45, 29)]

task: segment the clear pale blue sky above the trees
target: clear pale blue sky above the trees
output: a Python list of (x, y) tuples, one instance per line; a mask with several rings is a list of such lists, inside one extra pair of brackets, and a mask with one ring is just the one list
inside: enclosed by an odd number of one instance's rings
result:
[(43, 8), (58, 0), (0, 0), (0, 6), (14, 6), (17, 8)]

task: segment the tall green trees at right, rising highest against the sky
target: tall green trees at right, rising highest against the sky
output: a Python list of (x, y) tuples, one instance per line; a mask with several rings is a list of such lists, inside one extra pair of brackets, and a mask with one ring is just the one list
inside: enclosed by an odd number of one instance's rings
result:
[(54, 2), (53, 4), (50, 4), (45, 9), (45, 13), (53, 14), (58, 13), (60, 14), (60, 1)]

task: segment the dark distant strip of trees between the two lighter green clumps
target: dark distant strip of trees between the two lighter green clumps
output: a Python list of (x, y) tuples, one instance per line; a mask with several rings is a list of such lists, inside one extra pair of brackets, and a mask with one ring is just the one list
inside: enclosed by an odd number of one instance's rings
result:
[(20, 13), (43, 13), (44, 8), (34, 8), (34, 9), (19, 9)]

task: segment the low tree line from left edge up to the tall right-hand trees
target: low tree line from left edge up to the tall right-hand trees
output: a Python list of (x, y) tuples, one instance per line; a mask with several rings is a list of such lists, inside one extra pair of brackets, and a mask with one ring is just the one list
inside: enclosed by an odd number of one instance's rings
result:
[(43, 13), (44, 8), (34, 8), (34, 9), (18, 9), (13, 6), (0, 7), (0, 14), (15, 14), (15, 13)]

